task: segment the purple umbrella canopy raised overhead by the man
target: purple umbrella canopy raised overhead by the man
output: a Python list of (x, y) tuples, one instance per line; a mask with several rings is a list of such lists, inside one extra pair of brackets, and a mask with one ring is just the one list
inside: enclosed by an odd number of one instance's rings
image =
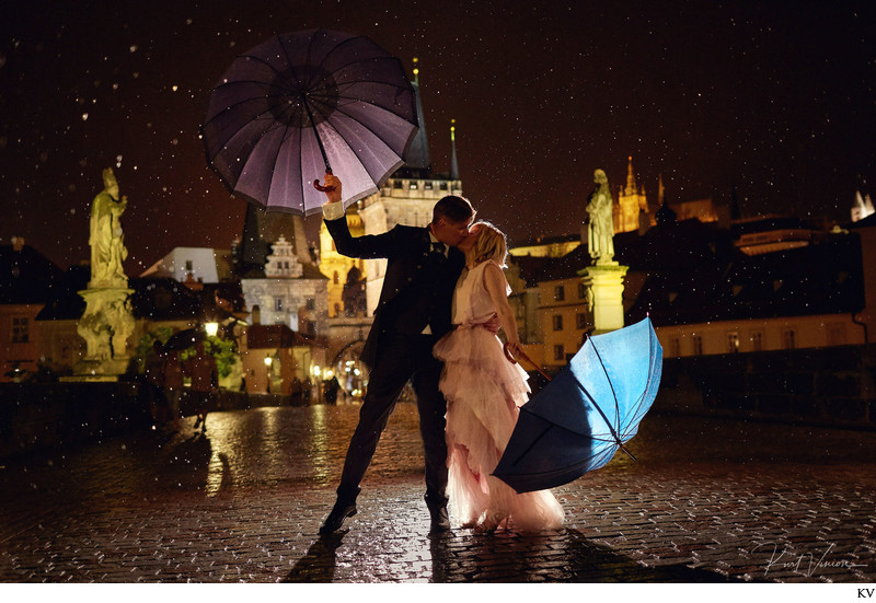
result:
[(399, 59), (365, 36), (313, 30), (238, 57), (210, 94), (201, 137), (234, 196), (307, 216), (325, 202), (311, 183), (326, 171), (344, 183), (345, 207), (376, 193), (417, 129)]

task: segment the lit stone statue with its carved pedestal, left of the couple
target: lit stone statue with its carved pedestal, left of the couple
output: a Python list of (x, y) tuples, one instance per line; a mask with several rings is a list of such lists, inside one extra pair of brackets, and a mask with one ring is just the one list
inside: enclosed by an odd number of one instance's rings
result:
[(77, 363), (79, 375), (118, 375), (127, 370), (130, 357), (127, 340), (134, 332), (134, 313), (128, 297), (128, 277), (122, 263), (128, 255), (120, 217), (128, 205), (119, 200), (118, 182), (113, 170), (103, 171), (104, 189), (91, 205), (90, 235), (91, 280), (79, 294), (85, 312), (77, 333), (85, 340), (85, 357)]

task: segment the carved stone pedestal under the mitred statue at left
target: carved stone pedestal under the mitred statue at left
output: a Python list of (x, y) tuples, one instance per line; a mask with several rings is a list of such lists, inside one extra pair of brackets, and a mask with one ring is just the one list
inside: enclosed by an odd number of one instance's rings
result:
[(134, 332), (134, 313), (125, 287), (95, 287), (79, 291), (85, 300), (85, 312), (79, 320), (77, 333), (85, 340), (85, 357), (73, 367), (77, 375), (119, 375), (128, 369), (128, 337)]

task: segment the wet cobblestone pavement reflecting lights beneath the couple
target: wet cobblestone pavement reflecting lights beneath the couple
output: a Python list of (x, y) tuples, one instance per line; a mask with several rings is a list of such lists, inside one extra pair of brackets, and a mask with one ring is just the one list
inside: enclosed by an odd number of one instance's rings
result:
[[(358, 406), (216, 413), (7, 460), (3, 582), (874, 582), (876, 433), (652, 414), (554, 491), (563, 530), (428, 534), (413, 404), (345, 531), (334, 502)], [(347, 529), (348, 527), (348, 529)]]

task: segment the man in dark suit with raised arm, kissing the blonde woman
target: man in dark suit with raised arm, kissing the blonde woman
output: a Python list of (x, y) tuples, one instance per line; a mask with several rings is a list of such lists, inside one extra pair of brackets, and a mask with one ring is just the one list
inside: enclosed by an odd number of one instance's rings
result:
[(431, 531), (448, 530), (447, 403), (438, 390), (442, 364), (433, 357), (431, 348), (450, 331), (453, 289), (465, 264), (456, 246), (469, 235), (475, 211), (466, 199), (451, 195), (435, 205), (428, 227), (400, 224), (383, 234), (354, 239), (341, 202), (341, 181), (326, 174), (325, 185), (335, 187), (326, 193), (323, 217), (337, 252), (349, 257), (385, 257), (389, 262), (374, 322), (361, 352), (371, 369), (368, 392), (347, 449), (337, 501), (320, 534), (339, 530), (344, 520), (356, 514), (359, 484), (408, 380), (413, 380), (419, 411)]

